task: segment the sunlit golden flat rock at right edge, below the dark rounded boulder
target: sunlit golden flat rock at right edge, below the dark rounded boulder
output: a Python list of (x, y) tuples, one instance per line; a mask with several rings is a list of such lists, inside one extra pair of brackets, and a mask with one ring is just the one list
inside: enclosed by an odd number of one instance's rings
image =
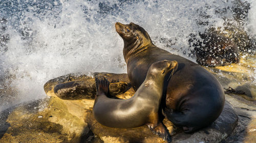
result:
[(224, 89), (233, 89), (230, 94), (238, 94), (246, 100), (256, 101), (256, 85), (253, 77), (256, 65), (252, 62), (255, 60), (256, 55), (249, 55), (247, 58), (241, 58), (239, 64), (206, 69), (218, 78)]

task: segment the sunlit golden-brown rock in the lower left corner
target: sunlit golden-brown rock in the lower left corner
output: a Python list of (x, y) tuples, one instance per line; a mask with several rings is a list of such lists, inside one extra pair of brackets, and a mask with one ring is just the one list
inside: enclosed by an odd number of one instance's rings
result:
[(6, 123), (9, 127), (3, 132), (4, 134), (0, 135), (2, 136), (0, 142), (86, 140), (90, 129), (83, 120), (84, 114), (78, 115), (81, 110), (84, 110), (84, 106), (65, 102), (56, 97), (14, 107), (13, 111), (7, 115)]

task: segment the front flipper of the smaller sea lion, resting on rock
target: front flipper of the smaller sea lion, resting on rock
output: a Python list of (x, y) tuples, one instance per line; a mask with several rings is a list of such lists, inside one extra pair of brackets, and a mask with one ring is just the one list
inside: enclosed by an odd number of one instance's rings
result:
[(172, 142), (172, 137), (170, 136), (168, 129), (164, 126), (163, 123), (159, 122), (157, 126), (148, 125), (148, 127), (155, 135), (160, 136), (167, 142)]

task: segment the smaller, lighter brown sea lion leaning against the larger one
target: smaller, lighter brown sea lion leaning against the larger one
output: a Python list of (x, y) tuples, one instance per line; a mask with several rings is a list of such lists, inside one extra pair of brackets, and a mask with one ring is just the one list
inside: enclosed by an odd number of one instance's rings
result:
[(95, 78), (98, 91), (93, 106), (95, 119), (104, 126), (115, 128), (147, 125), (154, 134), (171, 141), (168, 130), (159, 119), (159, 106), (164, 80), (170, 79), (177, 67), (176, 61), (152, 64), (134, 96), (126, 100), (108, 98), (109, 81)]

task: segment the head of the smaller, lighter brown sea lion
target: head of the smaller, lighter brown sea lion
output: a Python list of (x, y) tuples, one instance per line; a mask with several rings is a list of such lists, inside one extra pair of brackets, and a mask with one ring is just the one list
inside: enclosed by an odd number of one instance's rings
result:
[(178, 62), (177, 61), (158, 61), (153, 63), (150, 66), (150, 69), (148, 69), (147, 75), (151, 77), (165, 77), (167, 74), (172, 71), (168, 77), (168, 80), (170, 77), (174, 74), (174, 72), (178, 69)]

